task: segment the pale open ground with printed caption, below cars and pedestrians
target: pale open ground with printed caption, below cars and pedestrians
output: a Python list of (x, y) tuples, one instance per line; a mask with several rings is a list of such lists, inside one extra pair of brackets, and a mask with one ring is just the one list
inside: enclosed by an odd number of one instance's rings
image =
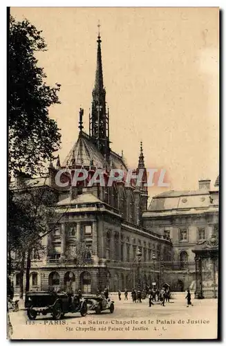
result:
[(89, 311), (84, 318), (79, 313), (66, 314), (64, 320), (53, 321), (51, 316), (28, 320), (26, 311), (10, 313), (12, 338), (216, 338), (217, 300), (194, 300), (187, 307), (185, 295), (176, 295), (165, 307), (148, 300), (141, 303), (119, 301), (115, 311), (97, 315)]

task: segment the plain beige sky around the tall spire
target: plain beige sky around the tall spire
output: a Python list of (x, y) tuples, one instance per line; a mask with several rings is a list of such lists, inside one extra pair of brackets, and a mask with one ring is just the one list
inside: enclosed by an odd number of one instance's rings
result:
[[(166, 170), (165, 190), (214, 185), (219, 165), (218, 8), (11, 8), (46, 41), (37, 54), (50, 85), (62, 84), (50, 118), (61, 129), (61, 161), (84, 129), (95, 80), (97, 24), (109, 106), (111, 149), (138, 165)], [(158, 173), (157, 173), (158, 174)]]

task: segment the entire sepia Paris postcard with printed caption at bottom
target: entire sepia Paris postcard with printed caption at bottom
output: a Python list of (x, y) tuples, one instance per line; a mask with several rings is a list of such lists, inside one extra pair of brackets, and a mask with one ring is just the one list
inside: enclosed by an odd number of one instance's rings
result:
[(219, 8), (10, 8), (8, 80), (8, 338), (218, 338)]

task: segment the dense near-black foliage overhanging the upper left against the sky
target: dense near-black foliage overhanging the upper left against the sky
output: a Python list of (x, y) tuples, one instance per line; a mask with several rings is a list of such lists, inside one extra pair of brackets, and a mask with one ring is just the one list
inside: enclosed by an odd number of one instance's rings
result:
[(60, 84), (48, 86), (35, 54), (46, 51), (41, 31), (26, 19), (10, 16), (9, 46), (9, 171), (41, 173), (44, 163), (59, 149), (57, 122), (49, 107), (59, 104)]

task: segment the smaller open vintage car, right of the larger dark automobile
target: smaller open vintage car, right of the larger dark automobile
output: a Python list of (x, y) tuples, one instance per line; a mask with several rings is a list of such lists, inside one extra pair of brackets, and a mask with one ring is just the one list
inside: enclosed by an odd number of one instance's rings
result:
[(96, 313), (101, 313), (103, 310), (110, 310), (111, 313), (115, 310), (115, 305), (113, 300), (110, 298), (105, 298), (103, 295), (84, 295), (84, 300), (88, 310), (95, 311)]

